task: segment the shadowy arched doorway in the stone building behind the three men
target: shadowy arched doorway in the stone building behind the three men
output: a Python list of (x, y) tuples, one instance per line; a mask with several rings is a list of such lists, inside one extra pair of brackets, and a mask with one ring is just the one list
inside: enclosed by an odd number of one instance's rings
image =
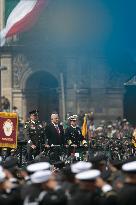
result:
[(41, 120), (48, 121), (53, 111), (59, 111), (58, 81), (48, 72), (33, 73), (26, 81), (26, 110), (38, 109)]

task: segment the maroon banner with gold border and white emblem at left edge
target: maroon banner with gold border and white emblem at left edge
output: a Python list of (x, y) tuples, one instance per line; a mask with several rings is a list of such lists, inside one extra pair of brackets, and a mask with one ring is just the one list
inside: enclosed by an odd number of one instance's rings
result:
[(0, 147), (17, 147), (18, 115), (0, 112)]

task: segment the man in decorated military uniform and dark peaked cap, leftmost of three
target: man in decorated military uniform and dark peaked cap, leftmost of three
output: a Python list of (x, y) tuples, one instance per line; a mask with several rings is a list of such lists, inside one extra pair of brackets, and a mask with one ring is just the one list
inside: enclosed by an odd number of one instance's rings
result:
[(38, 111), (29, 112), (30, 120), (25, 123), (25, 136), (27, 140), (28, 160), (31, 161), (39, 155), (46, 144), (45, 127), (39, 121)]

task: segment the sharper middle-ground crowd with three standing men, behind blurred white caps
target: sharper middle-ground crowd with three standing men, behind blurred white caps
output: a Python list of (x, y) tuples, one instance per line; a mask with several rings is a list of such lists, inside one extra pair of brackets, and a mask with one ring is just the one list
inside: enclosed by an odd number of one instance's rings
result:
[[(86, 135), (82, 125), (86, 119)], [(17, 155), (20, 164), (29, 163), (35, 158), (47, 157), (50, 162), (65, 160), (88, 161), (102, 153), (109, 160), (126, 160), (136, 155), (136, 129), (126, 119), (114, 122), (94, 121), (94, 115), (70, 115), (65, 125), (60, 123), (58, 113), (52, 113), (50, 123), (39, 120), (38, 110), (29, 112), (29, 119), (21, 123), (18, 147), (7, 156)], [(21, 152), (21, 153), (20, 153)], [(22, 156), (20, 156), (22, 155)]]

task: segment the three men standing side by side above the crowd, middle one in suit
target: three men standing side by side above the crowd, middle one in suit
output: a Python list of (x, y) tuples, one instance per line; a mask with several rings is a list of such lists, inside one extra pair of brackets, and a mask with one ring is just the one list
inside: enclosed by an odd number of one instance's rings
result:
[(55, 148), (56, 155), (60, 155), (62, 146), (70, 147), (68, 155), (71, 155), (75, 148), (82, 144), (84, 137), (77, 125), (77, 116), (70, 116), (69, 120), (70, 125), (64, 130), (57, 113), (52, 113), (51, 123), (45, 125), (39, 121), (38, 111), (31, 111), (30, 120), (24, 125), (28, 161), (48, 148)]

